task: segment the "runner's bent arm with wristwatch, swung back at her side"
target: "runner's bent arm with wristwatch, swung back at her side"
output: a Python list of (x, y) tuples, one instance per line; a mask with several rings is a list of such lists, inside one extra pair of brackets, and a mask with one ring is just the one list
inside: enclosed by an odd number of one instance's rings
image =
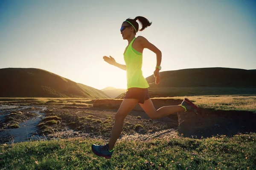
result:
[[(157, 65), (156, 66), (160, 66), (161, 61), (162, 61), (162, 52), (156, 46), (151, 44), (147, 39), (145, 39), (145, 37), (138, 36), (137, 38), (139, 38), (140, 45), (143, 48), (148, 48), (149, 50), (153, 51), (157, 55)], [(156, 77), (155, 83), (159, 84), (160, 74), (159, 74), (159, 69), (158, 68), (156, 68), (155, 71), (154, 71), (154, 77)]]

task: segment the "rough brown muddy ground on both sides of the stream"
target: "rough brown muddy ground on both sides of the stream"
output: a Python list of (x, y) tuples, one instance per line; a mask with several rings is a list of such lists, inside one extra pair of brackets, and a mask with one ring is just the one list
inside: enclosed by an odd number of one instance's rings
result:
[[(117, 111), (81, 105), (25, 105), (29, 108), (21, 109), (20, 106), (8, 113), (5, 112), (5, 116), (3, 111), (0, 113), (3, 116), (0, 123), (0, 144), (15, 142), (15, 136), (1, 131), (20, 128), (16, 125), (35, 117), (36, 114), (33, 112), (38, 109), (37, 107), (46, 109), (41, 111), (44, 116), (37, 123), (34, 134), (28, 136), (28, 140), (33, 140), (35, 135), (44, 136), (44, 139), (90, 137), (108, 140)], [(131, 111), (125, 118), (119, 139), (145, 141), (154, 138), (177, 138), (177, 127), (177, 114), (152, 121), (143, 111)]]

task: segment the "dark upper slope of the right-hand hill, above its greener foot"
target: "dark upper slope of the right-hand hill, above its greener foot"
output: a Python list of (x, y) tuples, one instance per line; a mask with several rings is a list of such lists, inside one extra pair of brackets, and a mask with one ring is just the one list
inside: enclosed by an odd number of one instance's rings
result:
[[(254, 87), (256, 72), (237, 68), (191, 68), (160, 72), (161, 87)], [(155, 86), (154, 76), (147, 77)]]

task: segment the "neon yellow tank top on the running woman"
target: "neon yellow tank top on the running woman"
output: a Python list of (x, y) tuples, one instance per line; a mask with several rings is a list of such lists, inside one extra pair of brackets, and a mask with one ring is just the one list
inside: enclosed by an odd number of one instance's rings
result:
[[(136, 38), (136, 37), (135, 37)], [(132, 48), (132, 43), (128, 45), (124, 52), (126, 64), (127, 89), (128, 88), (148, 88), (148, 82), (142, 75), (142, 53)]]

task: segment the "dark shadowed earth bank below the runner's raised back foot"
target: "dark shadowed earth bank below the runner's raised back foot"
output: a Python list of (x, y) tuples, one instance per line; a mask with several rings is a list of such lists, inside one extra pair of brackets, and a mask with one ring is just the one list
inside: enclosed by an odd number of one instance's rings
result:
[(178, 113), (178, 133), (186, 137), (233, 136), (256, 132), (256, 113), (248, 111), (215, 111), (201, 109), (204, 113)]

